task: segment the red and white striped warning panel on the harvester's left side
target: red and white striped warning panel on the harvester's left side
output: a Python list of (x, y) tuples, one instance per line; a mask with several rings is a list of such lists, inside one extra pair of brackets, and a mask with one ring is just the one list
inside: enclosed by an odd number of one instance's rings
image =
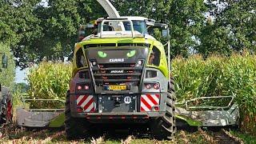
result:
[(83, 112), (94, 112), (96, 110), (96, 103), (92, 95), (78, 95), (77, 106), (83, 109)]

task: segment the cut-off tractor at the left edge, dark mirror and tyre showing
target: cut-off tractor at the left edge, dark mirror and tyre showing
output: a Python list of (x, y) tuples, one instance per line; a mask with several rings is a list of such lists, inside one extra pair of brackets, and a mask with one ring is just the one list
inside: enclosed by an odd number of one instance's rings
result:
[[(4, 69), (8, 67), (8, 58), (6, 54), (2, 54), (2, 66), (0, 68), (0, 74), (4, 72)], [(11, 122), (13, 117), (12, 109), (12, 96), (10, 90), (6, 86), (2, 86), (0, 82), (0, 126), (3, 123)]]

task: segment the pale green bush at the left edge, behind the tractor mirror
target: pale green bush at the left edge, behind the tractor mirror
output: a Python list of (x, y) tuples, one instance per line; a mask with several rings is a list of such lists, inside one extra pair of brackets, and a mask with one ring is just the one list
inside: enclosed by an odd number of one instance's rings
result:
[[(8, 58), (8, 67), (7, 69), (2, 68), (2, 54), (6, 54)], [(15, 63), (14, 56), (10, 53), (10, 46), (6, 46), (5, 44), (0, 42), (0, 83), (2, 86), (7, 86), (10, 88), (14, 87), (14, 78), (15, 78)]]

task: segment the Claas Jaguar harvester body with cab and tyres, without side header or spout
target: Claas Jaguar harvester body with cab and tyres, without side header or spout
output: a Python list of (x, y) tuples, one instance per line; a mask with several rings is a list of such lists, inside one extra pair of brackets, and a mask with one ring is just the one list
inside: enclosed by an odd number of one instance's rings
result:
[(97, 25), (97, 34), (75, 45), (67, 138), (90, 130), (90, 123), (129, 122), (149, 123), (154, 138), (171, 137), (174, 83), (164, 46), (147, 31), (167, 26), (142, 17), (101, 18)]

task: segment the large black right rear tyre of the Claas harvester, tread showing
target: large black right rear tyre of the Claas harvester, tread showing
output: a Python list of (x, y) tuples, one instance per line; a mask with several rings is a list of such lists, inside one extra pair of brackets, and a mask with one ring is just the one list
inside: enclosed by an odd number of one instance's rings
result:
[(150, 123), (151, 134), (158, 140), (171, 139), (176, 132), (175, 126), (175, 94), (174, 94), (174, 80), (171, 79), (170, 90), (166, 99), (166, 114), (161, 118), (153, 119)]

